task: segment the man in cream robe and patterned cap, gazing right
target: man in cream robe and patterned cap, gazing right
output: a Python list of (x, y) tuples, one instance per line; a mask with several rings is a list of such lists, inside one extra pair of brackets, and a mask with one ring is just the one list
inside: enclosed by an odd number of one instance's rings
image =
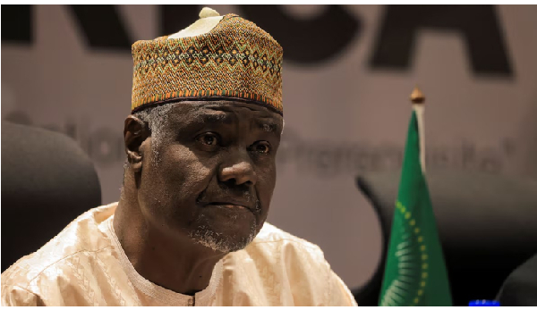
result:
[(2, 274), (13, 306), (354, 306), (319, 247), (265, 222), (284, 127), (282, 48), (205, 8), (138, 41), (118, 203)]

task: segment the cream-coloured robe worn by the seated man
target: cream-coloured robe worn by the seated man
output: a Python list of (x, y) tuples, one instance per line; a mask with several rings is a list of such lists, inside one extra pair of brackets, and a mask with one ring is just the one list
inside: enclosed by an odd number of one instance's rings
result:
[(356, 306), (319, 247), (265, 223), (194, 297), (136, 272), (113, 229), (117, 203), (81, 214), (2, 273), (2, 306)]

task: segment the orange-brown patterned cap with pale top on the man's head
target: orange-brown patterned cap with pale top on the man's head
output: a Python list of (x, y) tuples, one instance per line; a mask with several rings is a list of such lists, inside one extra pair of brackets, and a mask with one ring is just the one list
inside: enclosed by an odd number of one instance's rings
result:
[(251, 21), (203, 8), (174, 35), (132, 45), (132, 112), (180, 100), (226, 99), (283, 114), (277, 41)]

